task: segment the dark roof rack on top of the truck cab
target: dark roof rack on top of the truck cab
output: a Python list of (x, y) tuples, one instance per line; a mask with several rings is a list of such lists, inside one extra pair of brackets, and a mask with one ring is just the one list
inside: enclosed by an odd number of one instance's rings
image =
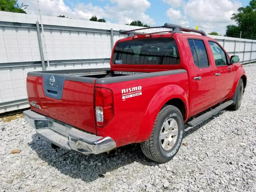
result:
[(206, 32), (204, 32), (204, 30), (193, 29), (193, 28), (190, 28), (190, 27), (184, 27), (184, 26), (181, 26), (181, 25), (170, 24), (170, 23), (165, 23), (163, 26), (158, 26), (158, 27), (146, 27), (146, 28), (139, 28), (139, 29), (134, 29), (134, 30), (119, 30), (119, 33), (120, 34), (128, 34), (128, 36), (152, 34), (152, 33), (136, 32), (136, 31), (145, 30), (145, 29), (154, 29), (154, 28), (172, 29), (170, 31), (153, 32), (154, 34), (155, 33), (163, 33), (163, 32), (182, 33), (182, 31), (184, 31), (184, 32), (195, 32), (195, 33), (201, 34), (202, 36), (207, 36), (207, 34), (206, 34)]

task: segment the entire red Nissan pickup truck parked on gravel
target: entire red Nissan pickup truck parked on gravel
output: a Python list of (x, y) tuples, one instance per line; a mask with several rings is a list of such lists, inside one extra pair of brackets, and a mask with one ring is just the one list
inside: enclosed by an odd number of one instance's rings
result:
[(240, 107), (247, 77), (239, 57), (204, 31), (160, 27), (168, 31), (120, 30), (128, 37), (116, 42), (110, 69), (29, 72), (28, 124), (66, 150), (99, 154), (140, 143), (148, 158), (172, 159), (184, 124)]

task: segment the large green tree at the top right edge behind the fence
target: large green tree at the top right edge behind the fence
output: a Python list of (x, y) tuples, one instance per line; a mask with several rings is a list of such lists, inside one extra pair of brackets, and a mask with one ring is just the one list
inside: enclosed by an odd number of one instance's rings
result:
[(226, 26), (226, 36), (256, 39), (256, 0), (251, 0), (246, 7), (238, 8), (238, 13), (234, 13), (232, 18), (237, 24)]

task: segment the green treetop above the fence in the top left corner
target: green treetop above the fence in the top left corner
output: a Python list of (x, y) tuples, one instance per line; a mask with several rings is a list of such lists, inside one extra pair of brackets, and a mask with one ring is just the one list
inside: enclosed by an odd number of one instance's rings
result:
[(25, 9), (28, 5), (18, 4), (17, 0), (0, 0), (0, 11), (8, 11), (14, 13), (26, 13)]

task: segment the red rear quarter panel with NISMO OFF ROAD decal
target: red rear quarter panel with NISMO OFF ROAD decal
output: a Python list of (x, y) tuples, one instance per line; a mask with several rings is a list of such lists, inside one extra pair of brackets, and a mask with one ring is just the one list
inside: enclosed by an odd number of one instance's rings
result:
[[(96, 129), (99, 136), (112, 137), (117, 146), (147, 140), (158, 112), (168, 100), (180, 98), (188, 106), (187, 73), (95, 86), (109, 88), (113, 92), (114, 118), (106, 127)], [(136, 86), (142, 86), (141, 95), (122, 98), (122, 89)]]

